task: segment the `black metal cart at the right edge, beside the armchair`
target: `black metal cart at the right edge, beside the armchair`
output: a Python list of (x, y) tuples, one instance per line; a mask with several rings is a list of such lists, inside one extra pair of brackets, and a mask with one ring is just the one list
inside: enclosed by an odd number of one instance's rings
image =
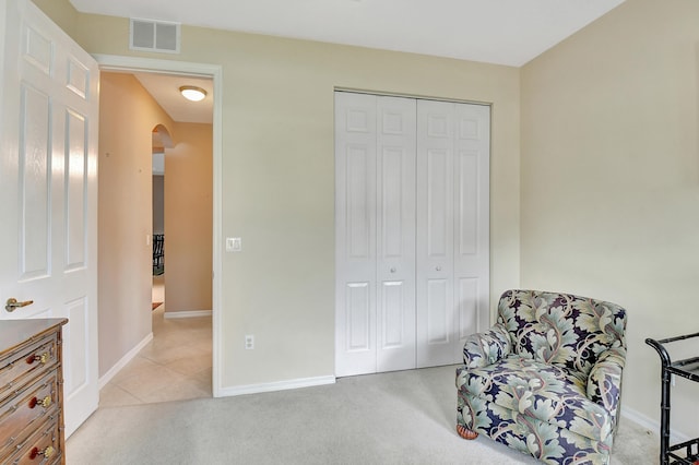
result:
[(661, 370), (661, 403), (660, 403), (660, 463), (662, 465), (688, 464), (695, 465), (699, 461), (699, 438), (678, 444), (670, 444), (670, 391), (672, 375), (686, 378), (699, 382), (699, 357), (687, 358), (673, 362), (665, 349), (665, 344), (699, 337), (699, 333), (666, 339), (645, 339), (645, 344), (653, 347), (662, 363)]

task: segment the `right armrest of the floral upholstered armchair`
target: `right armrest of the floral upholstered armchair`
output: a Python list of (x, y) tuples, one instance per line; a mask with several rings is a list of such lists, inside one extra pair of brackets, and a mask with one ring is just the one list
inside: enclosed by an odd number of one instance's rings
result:
[(588, 377), (588, 397), (616, 416), (621, 395), (621, 371), (626, 360), (624, 347), (602, 353)]

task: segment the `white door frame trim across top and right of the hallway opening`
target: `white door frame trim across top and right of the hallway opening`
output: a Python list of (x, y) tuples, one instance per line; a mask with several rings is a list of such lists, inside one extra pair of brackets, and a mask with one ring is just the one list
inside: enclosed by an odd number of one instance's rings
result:
[(176, 75), (196, 75), (211, 78), (214, 83), (214, 119), (213, 119), (213, 283), (212, 283), (212, 388), (214, 397), (220, 397), (223, 373), (223, 323), (221, 317), (223, 276), (223, 67), (221, 64), (193, 63), (177, 60), (141, 58), (117, 55), (93, 55), (100, 70), (169, 73)]

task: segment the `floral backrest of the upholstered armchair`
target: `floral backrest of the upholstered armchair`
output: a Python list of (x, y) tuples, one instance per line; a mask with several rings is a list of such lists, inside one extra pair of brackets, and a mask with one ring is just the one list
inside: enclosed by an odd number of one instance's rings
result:
[(500, 297), (498, 322), (510, 333), (516, 353), (583, 377), (609, 348), (626, 353), (626, 310), (612, 302), (511, 289)]

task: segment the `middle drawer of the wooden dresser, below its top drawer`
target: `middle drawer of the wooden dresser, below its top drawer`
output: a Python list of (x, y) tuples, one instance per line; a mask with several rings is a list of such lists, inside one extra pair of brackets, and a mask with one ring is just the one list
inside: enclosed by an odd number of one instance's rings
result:
[(54, 370), (0, 405), (0, 460), (25, 441), (47, 418), (59, 418), (59, 392), (58, 372)]

